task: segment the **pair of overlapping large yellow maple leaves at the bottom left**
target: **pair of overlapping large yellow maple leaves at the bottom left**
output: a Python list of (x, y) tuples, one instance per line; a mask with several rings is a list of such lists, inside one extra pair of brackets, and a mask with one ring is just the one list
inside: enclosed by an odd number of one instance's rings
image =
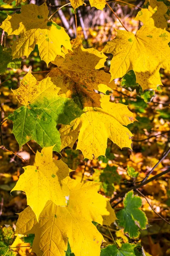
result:
[(53, 160), (53, 147), (37, 152), (35, 166), (25, 167), (13, 190), (26, 192), (27, 207), (19, 214), (16, 233), (34, 233), (32, 251), (65, 256), (68, 241), (75, 256), (99, 255), (104, 241), (92, 224), (116, 220), (108, 198), (97, 193), (99, 183), (84, 184), (68, 176), (62, 160)]

